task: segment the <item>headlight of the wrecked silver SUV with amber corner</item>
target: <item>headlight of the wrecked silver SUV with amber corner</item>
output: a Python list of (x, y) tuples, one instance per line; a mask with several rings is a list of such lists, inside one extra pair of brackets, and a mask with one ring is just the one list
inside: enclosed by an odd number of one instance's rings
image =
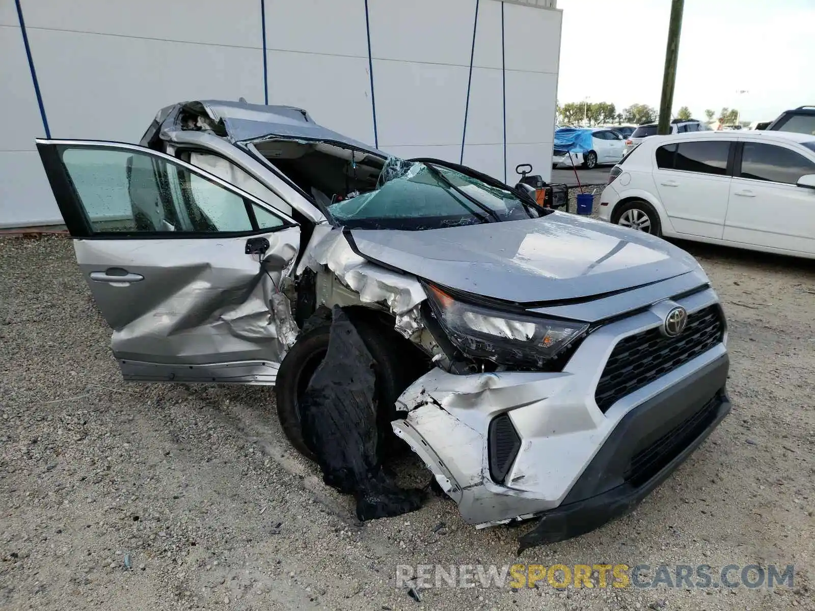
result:
[(502, 365), (544, 367), (588, 330), (587, 323), (491, 310), (425, 285), (430, 307), (458, 349)]

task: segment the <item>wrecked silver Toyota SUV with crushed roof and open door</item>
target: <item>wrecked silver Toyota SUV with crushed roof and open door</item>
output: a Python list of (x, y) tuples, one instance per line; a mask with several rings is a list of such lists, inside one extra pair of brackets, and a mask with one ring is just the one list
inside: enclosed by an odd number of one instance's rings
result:
[(276, 385), (311, 455), (298, 400), (339, 307), (382, 439), (471, 524), (542, 518), (522, 544), (627, 512), (729, 411), (694, 258), (522, 185), (243, 101), (164, 108), (139, 146), (37, 147), (126, 380)]

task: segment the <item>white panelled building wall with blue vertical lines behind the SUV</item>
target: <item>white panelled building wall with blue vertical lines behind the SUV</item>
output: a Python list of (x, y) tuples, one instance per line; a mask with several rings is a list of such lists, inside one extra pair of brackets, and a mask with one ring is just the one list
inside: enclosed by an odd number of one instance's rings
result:
[(18, 1), (54, 138), (134, 142), (163, 106), (242, 96), (397, 156), (458, 162), (465, 135), (465, 165), (550, 175), (561, 12), (523, 5), (554, 0), (4, 0), (0, 226), (60, 222)]

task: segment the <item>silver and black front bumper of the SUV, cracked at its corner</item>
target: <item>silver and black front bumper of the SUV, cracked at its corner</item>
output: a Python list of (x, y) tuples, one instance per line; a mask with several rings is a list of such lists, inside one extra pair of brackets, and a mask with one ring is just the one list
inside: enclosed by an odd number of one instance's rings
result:
[[(707, 289), (678, 302), (693, 313), (717, 299)], [(559, 372), (434, 369), (399, 398), (404, 417), (394, 432), (470, 524), (541, 516), (528, 544), (593, 530), (634, 507), (729, 411), (723, 342), (605, 413), (597, 407), (598, 380), (615, 345), (662, 322), (654, 308), (608, 323)]]

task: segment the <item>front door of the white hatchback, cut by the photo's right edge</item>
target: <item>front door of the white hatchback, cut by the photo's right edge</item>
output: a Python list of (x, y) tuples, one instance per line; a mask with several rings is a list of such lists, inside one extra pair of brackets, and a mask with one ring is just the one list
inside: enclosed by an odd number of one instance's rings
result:
[(743, 142), (730, 186), (725, 240), (815, 253), (815, 191), (796, 187), (815, 162), (791, 148)]

